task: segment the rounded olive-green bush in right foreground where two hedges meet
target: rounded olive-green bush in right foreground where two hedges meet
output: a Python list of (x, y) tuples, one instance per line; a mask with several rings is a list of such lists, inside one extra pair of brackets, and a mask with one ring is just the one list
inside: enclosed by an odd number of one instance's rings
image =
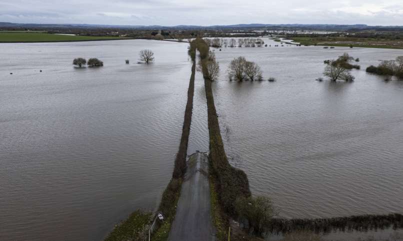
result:
[(239, 219), (247, 219), (250, 232), (260, 235), (263, 234), (271, 218), (276, 214), (271, 200), (265, 196), (237, 198), (235, 211)]

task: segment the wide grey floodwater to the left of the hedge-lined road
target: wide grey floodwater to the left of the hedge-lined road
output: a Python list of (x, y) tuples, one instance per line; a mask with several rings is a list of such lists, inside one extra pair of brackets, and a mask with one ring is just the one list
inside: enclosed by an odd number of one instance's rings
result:
[[(144, 48), (153, 64), (136, 64)], [(18, 43), (0, 52), (0, 240), (100, 240), (131, 211), (156, 208), (179, 146), (187, 44)], [(80, 56), (104, 66), (74, 68)]]

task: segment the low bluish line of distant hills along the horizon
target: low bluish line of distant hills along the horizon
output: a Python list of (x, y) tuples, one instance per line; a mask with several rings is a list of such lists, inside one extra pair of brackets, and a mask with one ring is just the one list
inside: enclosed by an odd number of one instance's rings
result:
[(301, 29), (301, 30), (349, 30), (349, 29), (392, 29), (403, 30), (403, 26), (369, 26), (366, 24), (234, 24), (234, 25), (106, 25), (106, 24), (37, 24), (0, 22), (0, 28), (132, 28), (132, 29)]

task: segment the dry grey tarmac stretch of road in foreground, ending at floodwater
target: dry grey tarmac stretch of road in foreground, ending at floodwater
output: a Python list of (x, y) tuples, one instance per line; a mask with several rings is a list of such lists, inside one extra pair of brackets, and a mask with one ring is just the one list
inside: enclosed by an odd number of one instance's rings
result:
[(190, 155), (168, 240), (215, 240), (207, 171), (206, 154), (197, 151)]

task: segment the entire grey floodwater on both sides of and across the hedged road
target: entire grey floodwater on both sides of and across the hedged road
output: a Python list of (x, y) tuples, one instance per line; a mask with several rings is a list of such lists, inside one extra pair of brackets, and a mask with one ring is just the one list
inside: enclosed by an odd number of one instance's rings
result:
[[(364, 71), (403, 51), (265, 41), (272, 47), (216, 50), (213, 84), (226, 153), (252, 193), (270, 196), (284, 217), (403, 212), (403, 81)], [(186, 47), (0, 44), (0, 240), (100, 240), (130, 211), (156, 208), (183, 124)], [(143, 48), (155, 63), (135, 63)], [(344, 51), (360, 58), (355, 81), (315, 81), (323, 60)], [(277, 81), (228, 81), (239, 55)], [(74, 68), (79, 56), (104, 66)], [(200, 73), (193, 100), (188, 154), (208, 150)]]

